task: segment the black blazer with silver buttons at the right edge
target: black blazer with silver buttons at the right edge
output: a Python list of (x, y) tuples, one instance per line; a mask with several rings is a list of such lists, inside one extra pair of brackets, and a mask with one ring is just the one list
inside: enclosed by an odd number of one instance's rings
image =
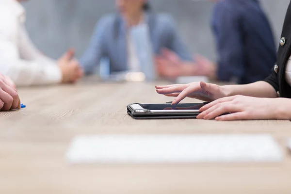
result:
[(277, 63), (272, 74), (265, 80), (277, 91), (278, 97), (291, 98), (291, 86), (285, 80), (286, 63), (291, 55), (291, 2), (289, 4), (283, 25), (280, 46), (277, 53)]

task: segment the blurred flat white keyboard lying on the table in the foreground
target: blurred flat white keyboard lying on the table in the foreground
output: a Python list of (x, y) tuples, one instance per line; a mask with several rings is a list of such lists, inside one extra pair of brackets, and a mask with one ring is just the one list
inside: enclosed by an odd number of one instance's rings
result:
[(71, 163), (281, 162), (270, 135), (96, 135), (76, 137)]

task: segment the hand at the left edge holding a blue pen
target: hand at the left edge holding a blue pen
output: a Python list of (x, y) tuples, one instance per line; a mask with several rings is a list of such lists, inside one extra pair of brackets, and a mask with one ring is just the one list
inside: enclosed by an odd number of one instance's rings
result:
[(20, 108), (20, 99), (16, 86), (10, 78), (0, 74), (0, 111)]

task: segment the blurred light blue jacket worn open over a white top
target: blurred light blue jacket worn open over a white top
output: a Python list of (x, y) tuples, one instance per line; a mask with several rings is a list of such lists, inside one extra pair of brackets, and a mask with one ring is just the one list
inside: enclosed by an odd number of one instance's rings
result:
[[(154, 54), (168, 48), (183, 60), (192, 61), (171, 16), (148, 12), (146, 18)], [(110, 73), (128, 70), (126, 25), (119, 15), (104, 16), (97, 22), (89, 48), (80, 60), (85, 73), (93, 73), (101, 58), (109, 59)]]

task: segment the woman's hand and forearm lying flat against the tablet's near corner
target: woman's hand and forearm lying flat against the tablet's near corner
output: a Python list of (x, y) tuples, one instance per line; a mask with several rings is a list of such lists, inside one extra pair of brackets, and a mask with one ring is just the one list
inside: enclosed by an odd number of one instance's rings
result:
[[(291, 99), (233, 96), (224, 97), (203, 106), (198, 119), (260, 120), (290, 119)], [(230, 113), (222, 115), (224, 113)]]

